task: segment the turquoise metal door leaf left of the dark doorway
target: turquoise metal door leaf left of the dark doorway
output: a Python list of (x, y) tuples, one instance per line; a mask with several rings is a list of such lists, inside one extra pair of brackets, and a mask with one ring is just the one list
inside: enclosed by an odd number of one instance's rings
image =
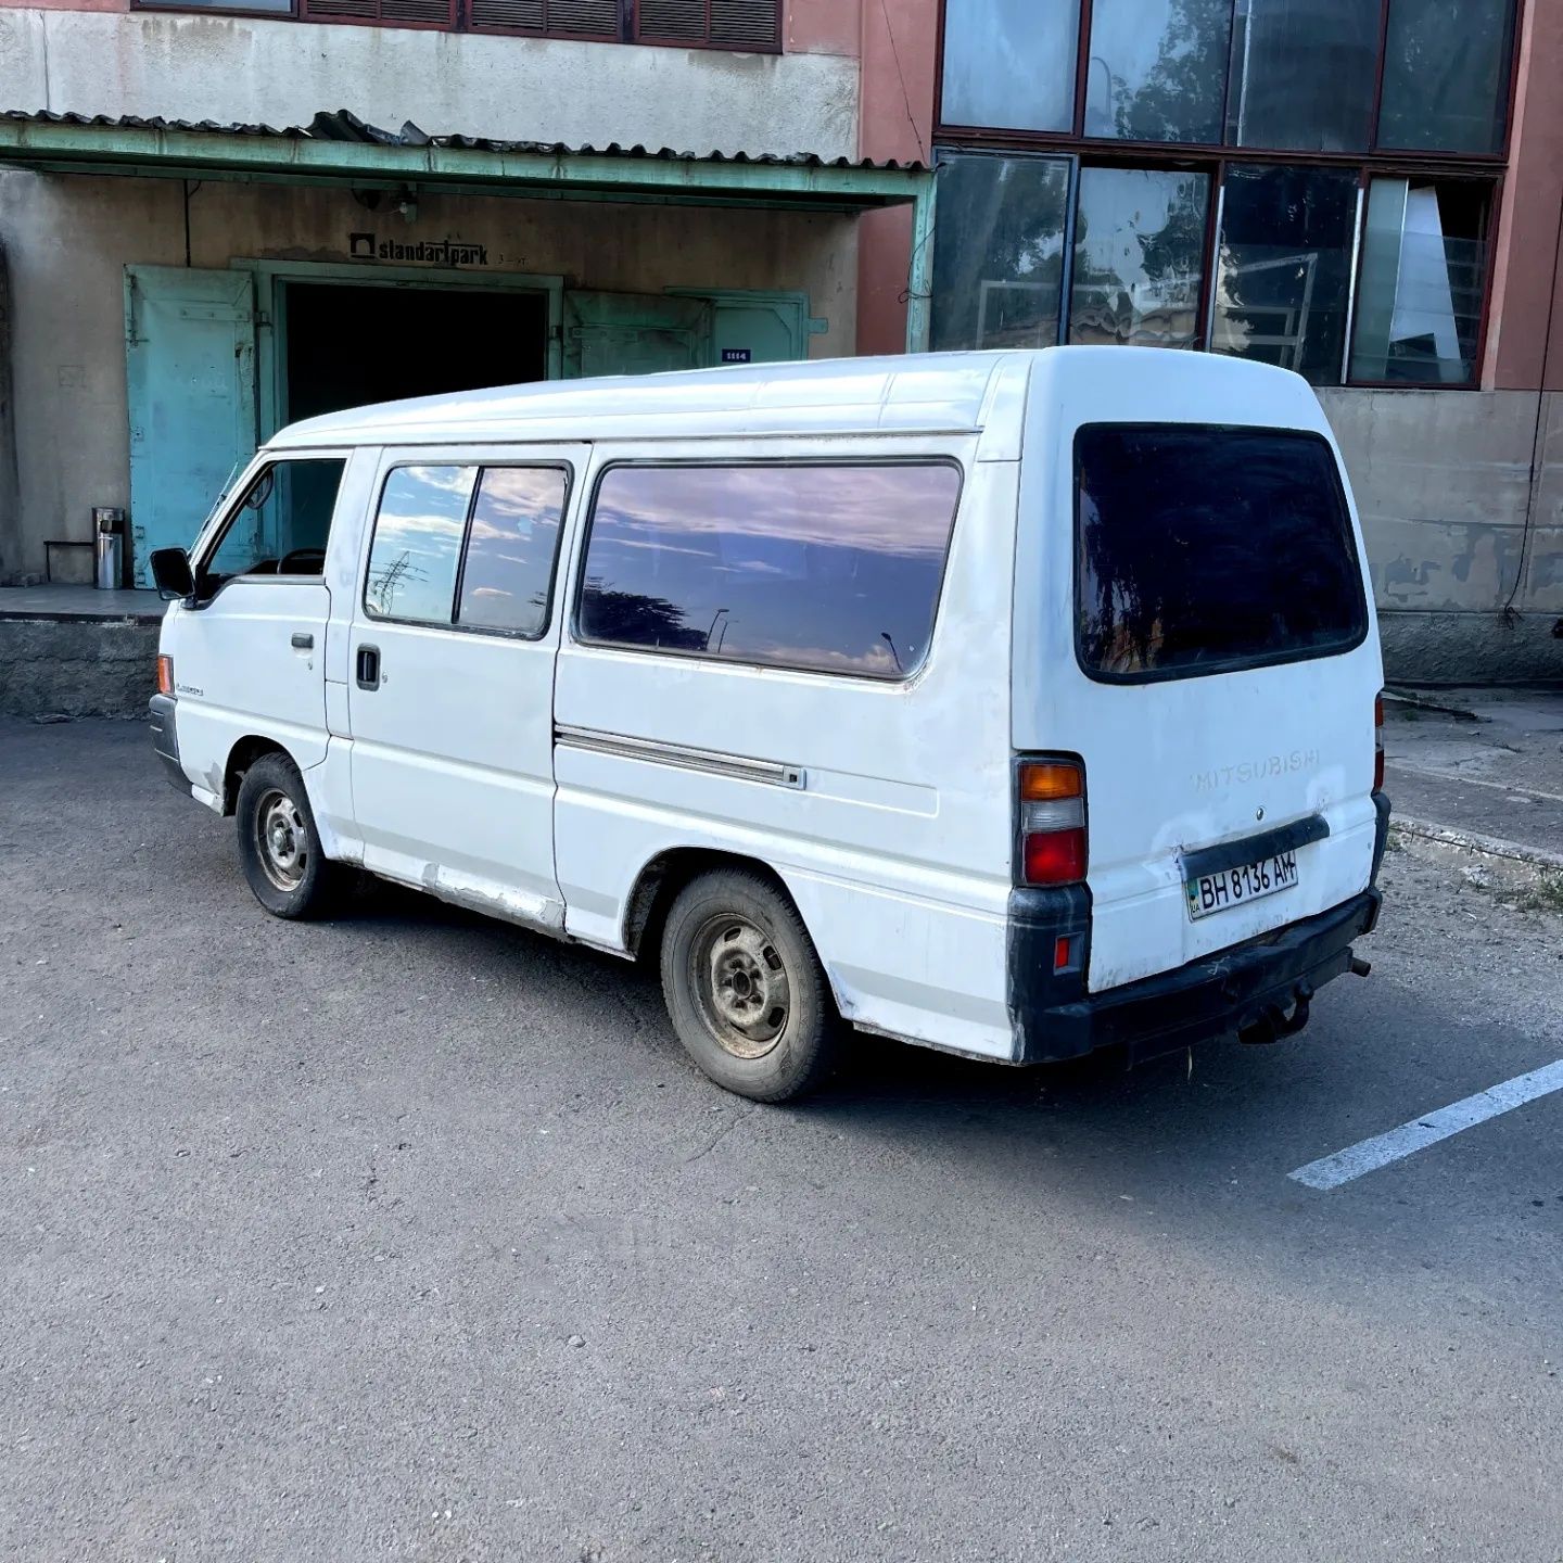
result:
[(255, 450), (250, 274), (127, 266), (125, 378), (131, 563), (150, 586), (152, 550), (189, 547)]

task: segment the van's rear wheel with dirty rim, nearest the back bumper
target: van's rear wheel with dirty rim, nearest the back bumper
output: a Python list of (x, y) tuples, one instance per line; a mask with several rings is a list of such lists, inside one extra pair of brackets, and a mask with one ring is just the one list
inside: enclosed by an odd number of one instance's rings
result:
[(678, 1041), (721, 1086), (789, 1102), (836, 1063), (842, 1025), (792, 903), (747, 869), (691, 880), (667, 913), (663, 993)]

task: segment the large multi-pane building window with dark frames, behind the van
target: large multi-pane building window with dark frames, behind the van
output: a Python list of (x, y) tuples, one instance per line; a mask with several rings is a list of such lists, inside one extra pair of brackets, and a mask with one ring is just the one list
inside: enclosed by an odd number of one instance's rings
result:
[(933, 344), (1474, 384), (1516, 13), (944, 0)]

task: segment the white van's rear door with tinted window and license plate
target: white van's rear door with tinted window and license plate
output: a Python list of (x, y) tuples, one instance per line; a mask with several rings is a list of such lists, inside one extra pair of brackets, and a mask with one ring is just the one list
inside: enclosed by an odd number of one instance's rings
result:
[(1047, 552), (1071, 589), (1016, 742), (1085, 761), (1102, 991), (1366, 888), (1382, 674), (1321, 428), (1099, 419), (1060, 442)]

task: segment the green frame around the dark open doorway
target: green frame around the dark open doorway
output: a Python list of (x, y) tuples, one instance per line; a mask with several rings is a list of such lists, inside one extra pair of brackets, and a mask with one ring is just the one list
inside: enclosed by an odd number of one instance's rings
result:
[(259, 438), (288, 422), (286, 283), (327, 283), (416, 292), (530, 292), (547, 299), (547, 378), (563, 377), (564, 278), (531, 272), (430, 272), (424, 266), (364, 266), (352, 261), (259, 261), (236, 258), (230, 270), (255, 278), (255, 377)]

